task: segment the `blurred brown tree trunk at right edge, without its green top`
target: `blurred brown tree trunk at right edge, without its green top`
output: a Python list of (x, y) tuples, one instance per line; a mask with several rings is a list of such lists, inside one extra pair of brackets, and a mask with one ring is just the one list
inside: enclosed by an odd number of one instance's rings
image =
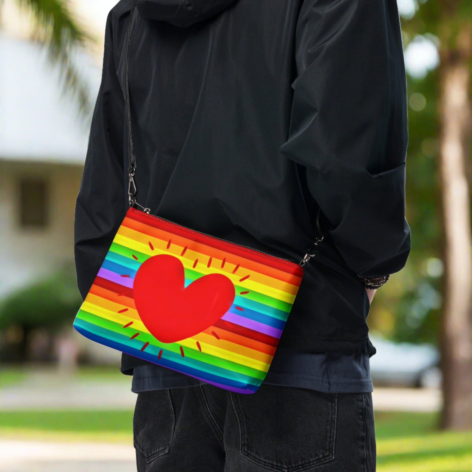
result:
[(444, 229), (444, 306), (441, 326), (444, 409), (442, 427), (472, 429), (472, 235), (466, 175), (471, 28), (449, 48), (440, 66), (440, 176)]

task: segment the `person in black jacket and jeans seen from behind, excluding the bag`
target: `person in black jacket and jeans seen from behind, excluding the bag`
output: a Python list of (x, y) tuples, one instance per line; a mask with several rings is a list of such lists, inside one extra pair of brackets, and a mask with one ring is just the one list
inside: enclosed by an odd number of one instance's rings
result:
[(261, 388), (123, 355), (139, 472), (375, 470), (369, 303), (410, 250), (396, 0), (121, 0), (76, 203), (84, 297), (137, 202), (299, 262), (324, 235)]

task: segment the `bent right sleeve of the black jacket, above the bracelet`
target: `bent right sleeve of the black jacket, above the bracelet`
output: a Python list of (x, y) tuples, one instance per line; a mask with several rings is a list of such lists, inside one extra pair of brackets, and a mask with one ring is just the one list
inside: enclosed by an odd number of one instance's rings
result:
[(304, 0), (281, 151), (306, 167), (347, 266), (380, 277), (405, 265), (406, 84), (396, 0)]

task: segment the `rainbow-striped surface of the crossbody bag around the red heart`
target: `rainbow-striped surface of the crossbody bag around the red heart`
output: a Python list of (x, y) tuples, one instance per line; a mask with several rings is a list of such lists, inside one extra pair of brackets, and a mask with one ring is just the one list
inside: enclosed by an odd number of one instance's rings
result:
[[(133, 282), (140, 265), (157, 254), (183, 263), (185, 287), (207, 274), (227, 276), (236, 290), (228, 312), (179, 342), (153, 337), (136, 310)], [(130, 208), (74, 327), (105, 346), (221, 388), (253, 393), (270, 367), (302, 277), (303, 269), (293, 262)]]

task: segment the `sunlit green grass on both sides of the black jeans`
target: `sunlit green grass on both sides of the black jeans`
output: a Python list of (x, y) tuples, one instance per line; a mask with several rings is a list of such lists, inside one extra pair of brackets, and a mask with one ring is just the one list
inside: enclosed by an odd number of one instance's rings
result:
[[(0, 414), (2, 437), (103, 440), (131, 444), (131, 411), (24, 411)], [(472, 431), (436, 430), (431, 413), (376, 413), (378, 472), (472, 472)]]

